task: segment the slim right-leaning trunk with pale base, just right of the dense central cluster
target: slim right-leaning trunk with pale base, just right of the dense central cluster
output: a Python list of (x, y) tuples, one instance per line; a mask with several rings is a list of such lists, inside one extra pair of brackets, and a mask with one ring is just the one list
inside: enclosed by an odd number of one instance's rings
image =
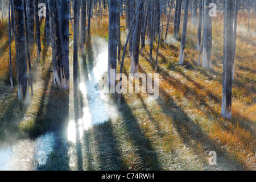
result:
[(179, 58), (180, 65), (183, 65), (184, 63), (185, 43), (187, 39), (187, 27), (188, 27), (188, 5), (189, 5), (189, 0), (185, 0), (183, 32), (181, 37), (180, 58)]

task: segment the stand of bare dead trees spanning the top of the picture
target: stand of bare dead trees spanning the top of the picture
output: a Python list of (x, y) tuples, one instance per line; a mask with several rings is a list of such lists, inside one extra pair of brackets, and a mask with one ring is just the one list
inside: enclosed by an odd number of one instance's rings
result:
[[(85, 54), (85, 44), (90, 39), (90, 22), (94, 18), (101, 22), (104, 10), (109, 11), (109, 84), (115, 84), (110, 78), (110, 70), (117, 74), (117, 63), (121, 73), (125, 56), (131, 60), (130, 72), (138, 73), (139, 56), (145, 45), (150, 44), (150, 62), (158, 67), (159, 43), (167, 39), (173, 27), (173, 36), (181, 41), (179, 64), (184, 64), (186, 51), (188, 14), (192, 15), (192, 24), (197, 28), (199, 59), (196, 67), (212, 68), (212, 17), (224, 15), (224, 48), (222, 77), (222, 117), (232, 118), (232, 81), (236, 54), (237, 16), (240, 12), (256, 13), (255, 0), (9, 0), (1, 1), (1, 21), (9, 22), (9, 45), (15, 41), (16, 77), (18, 80), (18, 98), (24, 105), (30, 104), (33, 96), (30, 46), (36, 43), (37, 60), (42, 53), (40, 26), (45, 19), (45, 42), (52, 49), (53, 83), (60, 90), (69, 89), (69, 40), (73, 34), (73, 91), (77, 94), (79, 53)], [(172, 18), (171, 14), (174, 14)], [(126, 17), (125, 27), (120, 26), (121, 17)], [(73, 32), (70, 33), (69, 23)], [(181, 27), (183, 24), (183, 27)], [(125, 45), (121, 45), (121, 28), (126, 30)], [(182, 28), (182, 32), (180, 31)], [(153, 44), (158, 42), (156, 57), (153, 57)], [(129, 47), (128, 47), (129, 46)], [(121, 55), (122, 53), (122, 55)], [(203, 62), (200, 63), (200, 57)], [(10, 84), (13, 88), (10, 51)], [(29, 86), (31, 89), (29, 89)], [(30, 93), (31, 90), (31, 93)], [(61, 92), (61, 91), (60, 91)]]

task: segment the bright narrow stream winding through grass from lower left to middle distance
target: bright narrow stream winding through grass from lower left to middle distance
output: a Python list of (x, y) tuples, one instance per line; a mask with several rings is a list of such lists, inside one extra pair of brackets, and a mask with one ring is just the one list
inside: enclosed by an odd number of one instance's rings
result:
[[(93, 125), (118, 115), (117, 109), (109, 104), (108, 96), (97, 89), (108, 69), (108, 42), (101, 38), (92, 38), (91, 42), (86, 59), (80, 59), (79, 89), (84, 101), (83, 116), (78, 122), (80, 137)], [(64, 133), (48, 132), (36, 139), (20, 139), (0, 146), (0, 171), (35, 170), (40, 151), (44, 151), (47, 158), (57, 140), (66, 138), (76, 143), (76, 127), (71, 118)]]

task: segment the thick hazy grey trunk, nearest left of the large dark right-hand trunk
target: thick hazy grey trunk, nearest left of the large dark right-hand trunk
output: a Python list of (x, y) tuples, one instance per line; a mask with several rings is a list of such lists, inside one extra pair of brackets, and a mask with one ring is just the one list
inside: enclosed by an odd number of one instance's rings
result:
[(212, 17), (209, 15), (209, 4), (212, 0), (204, 0), (204, 47), (203, 68), (212, 68)]

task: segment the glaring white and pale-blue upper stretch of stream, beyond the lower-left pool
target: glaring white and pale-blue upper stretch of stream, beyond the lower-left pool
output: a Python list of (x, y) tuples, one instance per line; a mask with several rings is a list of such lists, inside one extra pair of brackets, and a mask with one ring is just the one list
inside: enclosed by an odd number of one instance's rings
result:
[[(77, 122), (80, 139), (84, 131), (114, 119), (118, 111), (110, 105), (108, 96), (97, 89), (102, 76), (108, 71), (108, 42), (104, 39), (93, 38), (86, 45), (86, 56), (80, 57), (80, 83), (79, 89), (84, 103), (82, 117)], [(70, 121), (68, 125), (68, 140), (76, 143), (76, 122)]]

